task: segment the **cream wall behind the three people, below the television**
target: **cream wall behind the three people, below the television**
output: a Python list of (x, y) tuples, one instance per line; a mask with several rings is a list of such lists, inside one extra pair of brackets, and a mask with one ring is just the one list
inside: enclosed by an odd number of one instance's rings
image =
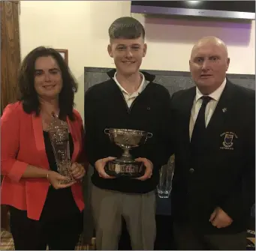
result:
[[(83, 118), (83, 67), (113, 67), (107, 30), (114, 19), (130, 16), (130, 1), (20, 1), (22, 58), (36, 46), (68, 49), (69, 66), (79, 82), (75, 102)], [(188, 71), (193, 44), (206, 35), (227, 43), (228, 73), (255, 73), (255, 22), (145, 18), (148, 52), (142, 68)]]

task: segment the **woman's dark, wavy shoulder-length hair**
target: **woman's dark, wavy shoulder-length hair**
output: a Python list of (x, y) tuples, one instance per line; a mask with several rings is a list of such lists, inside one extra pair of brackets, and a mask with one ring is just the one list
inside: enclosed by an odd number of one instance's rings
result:
[(74, 120), (74, 93), (77, 92), (77, 82), (74, 79), (68, 65), (65, 63), (62, 55), (53, 48), (44, 46), (37, 47), (26, 55), (20, 67), (18, 76), (19, 97), (23, 103), (23, 109), (26, 113), (35, 112), (39, 115), (40, 103), (38, 94), (35, 91), (35, 61), (40, 57), (53, 57), (62, 72), (62, 91), (59, 94), (59, 117)]

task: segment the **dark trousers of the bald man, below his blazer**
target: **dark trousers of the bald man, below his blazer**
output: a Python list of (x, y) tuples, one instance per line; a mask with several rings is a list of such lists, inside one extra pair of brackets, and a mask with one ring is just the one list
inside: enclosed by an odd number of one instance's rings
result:
[(173, 223), (178, 250), (246, 250), (246, 232), (230, 235), (203, 235), (191, 226)]

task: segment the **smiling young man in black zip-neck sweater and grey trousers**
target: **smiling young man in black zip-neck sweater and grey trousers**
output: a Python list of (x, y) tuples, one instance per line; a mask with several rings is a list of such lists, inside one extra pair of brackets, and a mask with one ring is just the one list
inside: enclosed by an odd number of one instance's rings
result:
[[(155, 76), (140, 71), (146, 55), (143, 25), (130, 16), (109, 28), (108, 52), (116, 70), (110, 79), (94, 85), (85, 95), (86, 149), (92, 175), (92, 211), (98, 250), (117, 250), (124, 217), (133, 250), (153, 250), (155, 242), (155, 187), (158, 171), (167, 163), (170, 146), (170, 94), (155, 84)], [(113, 178), (104, 166), (122, 149), (110, 142), (105, 129), (144, 130), (152, 133), (145, 145), (131, 150), (146, 166), (140, 178)]]

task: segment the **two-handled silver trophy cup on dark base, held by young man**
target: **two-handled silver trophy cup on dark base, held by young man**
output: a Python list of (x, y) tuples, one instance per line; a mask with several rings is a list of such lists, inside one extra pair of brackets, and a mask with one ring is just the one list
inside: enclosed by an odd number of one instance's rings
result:
[(104, 131), (110, 137), (111, 142), (114, 142), (124, 151), (120, 158), (107, 163), (105, 172), (114, 177), (138, 178), (142, 176), (145, 172), (145, 166), (134, 160), (130, 154), (130, 149), (145, 144), (146, 139), (152, 138), (152, 133), (114, 128)]

